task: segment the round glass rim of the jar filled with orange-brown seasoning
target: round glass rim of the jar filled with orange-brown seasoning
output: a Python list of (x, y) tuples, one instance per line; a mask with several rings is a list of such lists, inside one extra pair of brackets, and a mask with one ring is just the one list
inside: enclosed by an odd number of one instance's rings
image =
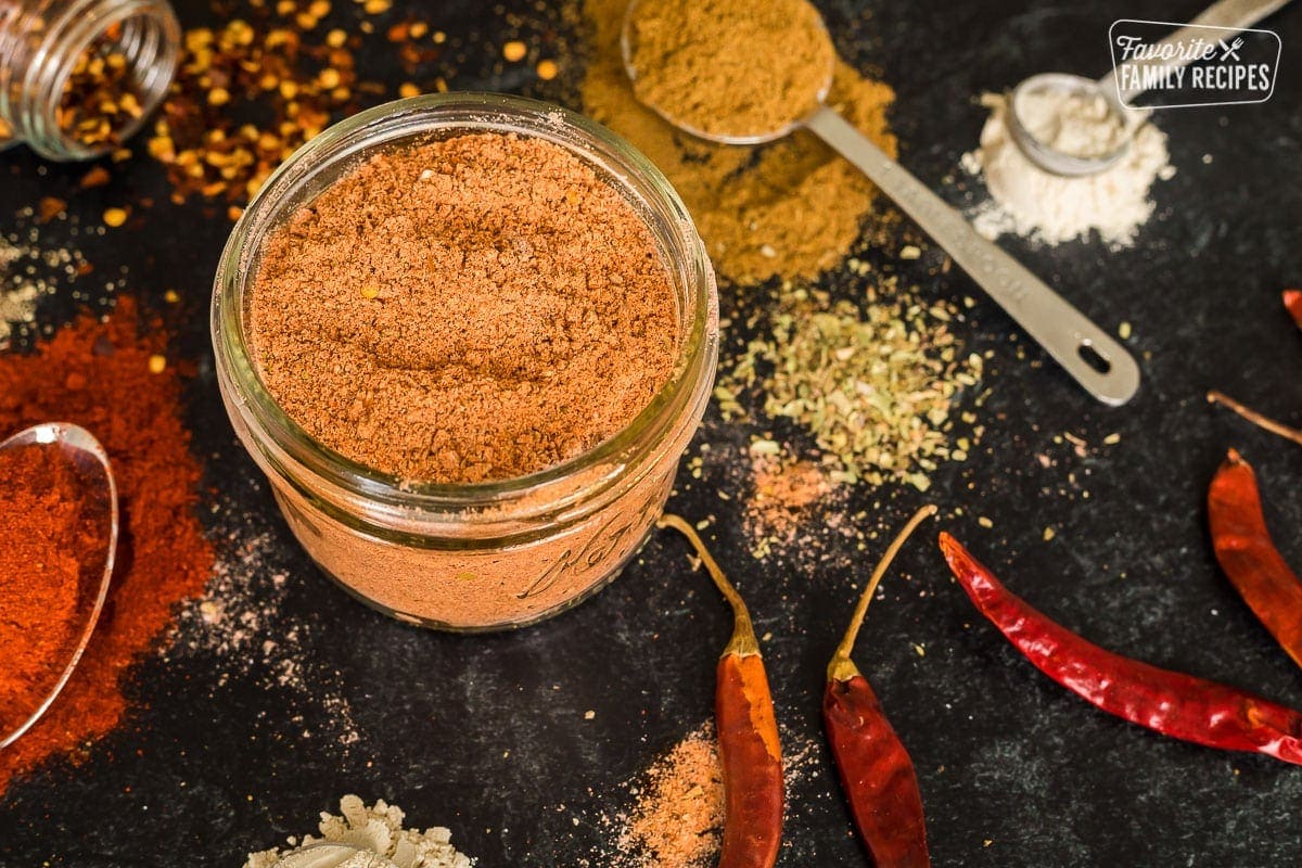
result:
[[(685, 267), (691, 297), (691, 320), (680, 334), (674, 368), (667, 383), (617, 433), (573, 458), (522, 476), (475, 483), (435, 483), (405, 479), (357, 462), (312, 437), (280, 407), (263, 381), (246, 340), (241, 299), (245, 285), (251, 280), (249, 265), (264, 234), (289, 216), (286, 211), (292, 194), (328, 168), (378, 152), (384, 144), (422, 133), (449, 130), (543, 137), (589, 164), (594, 163), (592, 155), (579, 152), (575, 142), (564, 137), (574, 137), (579, 143), (602, 148), (603, 156), (615, 163), (602, 167), (605, 169), (607, 182), (628, 199), (644, 199), (628, 176), (639, 176), (646, 181), (659, 202), (644, 204), (671, 215), (677, 236), (673, 241), (685, 254), (678, 263), (664, 263), (671, 271), (674, 264)], [(319, 193), (320, 190), (315, 190), (311, 195)], [(655, 226), (647, 215), (639, 213), (655, 236)], [(660, 241), (658, 238), (658, 246)], [(661, 254), (665, 252), (661, 250)], [(671, 278), (677, 281), (677, 277)], [(622, 465), (625, 462), (620, 457), (637, 452), (638, 442), (647, 432), (672, 426), (680, 415), (680, 407), (693, 401), (702, 381), (707, 390), (712, 381), (717, 354), (719, 299), (704, 242), (697, 233), (686, 206), (668, 178), (622, 137), (552, 103), (491, 92), (431, 94), (384, 103), (329, 126), (299, 147), (271, 174), (236, 223), (223, 250), (214, 281), (211, 331), (219, 368), (227, 363), (234, 372), (233, 385), (240, 393), (240, 402), (253, 409), (256, 420), (276, 446), (294, 462), (370, 501), (402, 508), (464, 508), (467, 504), (492, 505), (527, 496), (603, 463)], [(710, 370), (702, 372), (706, 364)]]

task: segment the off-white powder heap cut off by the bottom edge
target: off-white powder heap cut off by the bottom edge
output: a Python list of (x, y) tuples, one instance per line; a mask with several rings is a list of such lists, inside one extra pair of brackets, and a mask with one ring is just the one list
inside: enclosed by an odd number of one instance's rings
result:
[[(402, 809), (380, 799), (367, 807), (355, 795), (339, 800), (342, 816), (322, 812), (320, 837), (289, 839), (289, 848), (249, 854), (243, 868), (470, 868), (444, 828), (402, 828)], [(336, 846), (331, 846), (336, 845)]]

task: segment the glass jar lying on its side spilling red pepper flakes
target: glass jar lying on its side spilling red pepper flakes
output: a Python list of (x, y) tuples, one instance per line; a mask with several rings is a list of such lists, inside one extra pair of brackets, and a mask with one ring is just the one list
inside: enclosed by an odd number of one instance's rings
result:
[[(112, 151), (163, 102), (180, 49), (167, 0), (0, 0), (0, 150), (25, 142), (51, 160)], [(95, 57), (111, 69), (86, 73)], [(98, 79), (116, 107), (94, 135), (65, 112), (74, 74)]]

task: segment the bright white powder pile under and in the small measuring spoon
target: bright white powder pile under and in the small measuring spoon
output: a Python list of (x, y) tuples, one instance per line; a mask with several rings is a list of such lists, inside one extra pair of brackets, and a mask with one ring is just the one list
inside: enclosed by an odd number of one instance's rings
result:
[[(1038, 94), (1025, 104), (1025, 122), (1040, 141), (1057, 143), (1069, 154), (1092, 156), (1109, 151), (1118, 134), (1115, 124), (1100, 122), (1101, 98), (1074, 94)], [(1005, 117), (1008, 100), (987, 94), (991, 109), (980, 134), (980, 147), (963, 155), (963, 168), (986, 176), (991, 200), (970, 213), (973, 225), (987, 238), (1016, 233), (1049, 245), (1086, 238), (1092, 232), (1111, 247), (1129, 247), (1152, 216), (1148, 190), (1154, 181), (1170, 178), (1167, 135), (1152, 124), (1135, 133), (1121, 160), (1098, 174), (1065, 178), (1032, 164), (1013, 142)]]

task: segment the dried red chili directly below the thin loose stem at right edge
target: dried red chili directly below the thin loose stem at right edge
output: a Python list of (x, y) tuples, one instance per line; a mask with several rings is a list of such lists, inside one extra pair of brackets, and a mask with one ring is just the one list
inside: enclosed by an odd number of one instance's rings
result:
[(1302, 666), (1302, 580), (1284, 562), (1266, 528), (1251, 465), (1234, 452), (1207, 491), (1216, 560), (1258, 619)]

